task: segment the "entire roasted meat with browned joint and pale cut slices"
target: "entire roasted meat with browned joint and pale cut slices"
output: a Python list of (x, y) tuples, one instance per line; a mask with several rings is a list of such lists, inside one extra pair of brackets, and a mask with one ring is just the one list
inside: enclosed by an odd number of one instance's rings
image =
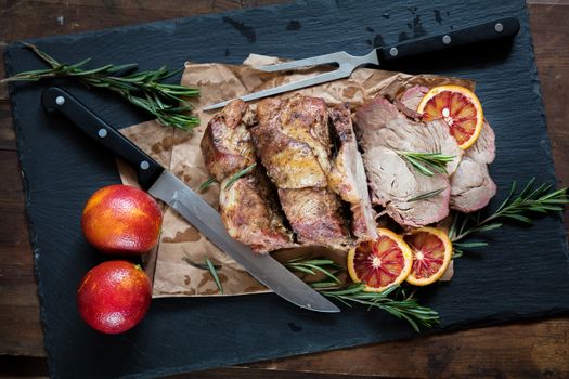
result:
[[(377, 238), (373, 205), (404, 227), (439, 222), (450, 208), (486, 207), (496, 192), (488, 172), (495, 156), (492, 128), (484, 121), (476, 143), (462, 151), (444, 120), (422, 121), (416, 109), (427, 91), (415, 86), (397, 99), (377, 95), (354, 114), (349, 104), (328, 107), (300, 94), (261, 100), (256, 112), (231, 102), (211, 118), (201, 143), (220, 183), (230, 235), (256, 252), (347, 250)], [(428, 177), (404, 153), (454, 158), (447, 173)]]

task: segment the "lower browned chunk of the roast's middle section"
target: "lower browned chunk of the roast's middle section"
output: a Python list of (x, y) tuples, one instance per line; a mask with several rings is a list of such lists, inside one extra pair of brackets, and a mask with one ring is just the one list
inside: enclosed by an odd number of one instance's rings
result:
[(279, 198), (299, 243), (347, 249), (341, 204), (328, 188), (279, 190)]

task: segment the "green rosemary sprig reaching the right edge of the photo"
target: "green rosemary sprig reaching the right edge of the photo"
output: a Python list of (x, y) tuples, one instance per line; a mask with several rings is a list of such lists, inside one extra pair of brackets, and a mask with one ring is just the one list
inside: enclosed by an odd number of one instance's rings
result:
[[(516, 220), (525, 224), (532, 224), (531, 217), (541, 213), (561, 211), (562, 205), (569, 204), (567, 188), (551, 191), (552, 185), (543, 183), (534, 188), (535, 178), (532, 178), (517, 195), (516, 181), (512, 182), (509, 193), (506, 199), (497, 207), (491, 215), (482, 219), (480, 212), (470, 214), (455, 213), (449, 237), (456, 246), (455, 252), (462, 254), (462, 248), (483, 247), (488, 244), (484, 241), (458, 243), (474, 233), (483, 233), (502, 227), (503, 223), (499, 220)], [(455, 256), (456, 257), (456, 256)]]

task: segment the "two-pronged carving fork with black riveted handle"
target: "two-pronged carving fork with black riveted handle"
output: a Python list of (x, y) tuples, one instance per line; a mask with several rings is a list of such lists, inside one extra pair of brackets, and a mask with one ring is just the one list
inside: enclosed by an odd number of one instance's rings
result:
[[(503, 17), (486, 23), (466, 26), (443, 35), (424, 37), (408, 40), (392, 45), (386, 45), (372, 50), (366, 55), (354, 56), (345, 51), (312, 56), (298, 61), (277, 63), (270, 66), (256, 67), (266, 73), (290, 70), (300, 67), (320, 66), (325, 64), (337, 64), (338, 68), (312, 76), (306, 79), (273, 87), (259, 92), (249, 93), (241, 96), (245, 102), (272, 96), (275, 94), (299, 90), (315, 84), (348, 78), (353, 70), (363, 65), (379, 66), (382, 62), (395, 61), (402, 57), (410, 57), (423, 53), (436, 52), (449, 48), (456, 48), (468, 43), (490, 41), (494, 39), (515, 36), (519, 30), (519, 21), (516, 17)], [(227, 100), (217, 104), (211, 104), (203, 110), (211, 110), (228, 105), (232, 100)]]

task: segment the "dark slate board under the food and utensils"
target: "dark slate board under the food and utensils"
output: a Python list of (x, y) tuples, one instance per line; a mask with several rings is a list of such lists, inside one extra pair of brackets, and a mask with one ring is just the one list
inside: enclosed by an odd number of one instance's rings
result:
[[(138, 62), (151, 69), (182, 67), (186, 60), (240, 63), (250, 52), (290, 58), (339, 50), (363, 54), (384, 41), (444, 32), (489, 15), (519, 17), (521, 29), (512, 43), (410, 60), (396, 68), (477, 80), (496, 132), (491, 173), (500, 193), (492, 208), (514, 179), (555, 183), (523, 0), (299, 1), (31, 42), (64, 62), (91, 56), (93, 67)], [(7, 66), (9, 74), (43, 67), (17, 43), (8, 49)], [(102, 257), (81, 236), (80, 210), (96, 188), (119, 179), (107, 152), (65, 120), (44, 115), (40, 93), (51, 83), (15, 84), (11, 100), (53, 377), (155, 377), (416, 336), (383, 312), (318, 314), (271, 293), (159, 299), (129, 332), (91, 330), (79, 319), (75, 295), (82, 275)], [(113, 94), (60, 83), (118, 128), (147, 117)], [(430, 332), (569, 310), (560, 215), (543, 218), (531, 230), (509, 224), (488, 235), (491, 246), (460, 259), (450, 284), (419, 291), (422, 302), (441, 315), (440, 328)]]

